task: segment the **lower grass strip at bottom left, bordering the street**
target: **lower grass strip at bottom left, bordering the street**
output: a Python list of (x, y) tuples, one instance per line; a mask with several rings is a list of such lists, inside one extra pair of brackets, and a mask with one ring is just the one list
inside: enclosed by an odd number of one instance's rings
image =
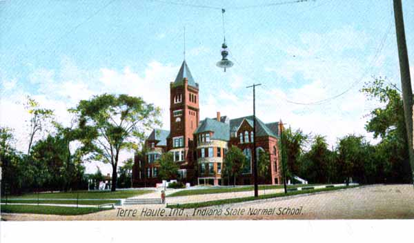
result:
[(55, 215), (83, 215), (108, 208), (75, 208), (69, 206), (1, 205), (1, 213), (37, 213)]

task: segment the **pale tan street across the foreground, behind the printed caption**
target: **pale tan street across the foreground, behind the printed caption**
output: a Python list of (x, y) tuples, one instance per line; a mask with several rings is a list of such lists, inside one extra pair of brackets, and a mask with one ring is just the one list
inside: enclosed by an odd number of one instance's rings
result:
[[(248, 193), (248, 192), (247, 192)], [(267, 193), (267, 192), (266, 192)], [(210, 195), (212, 196), (212, 195)], [(168, 197), (167, 197), (168, 198)], [(165, 210), (165, 205), (132, 205), (121, 209), (101, 211), (88, 215), (59, 216), (34, 214), (4, 214), (6, 220), (280, 220), (280, 219), (414, 219), (414, 189), (412, 185), (377, 185), (362, 188), (348, 188), (317, 195), (302, 195), (288, 199), (270, 199), (226, 204), (203, 209), (213, 211), (239, 210), (250, 208), (264, 210), (270, 208), (302, 208), (300, 215), (194, 215), (195, 210), (186, 209), (182, 215), (145, 216)], [(135, 216), (120, 217), (120, 210), (135, 211)]]

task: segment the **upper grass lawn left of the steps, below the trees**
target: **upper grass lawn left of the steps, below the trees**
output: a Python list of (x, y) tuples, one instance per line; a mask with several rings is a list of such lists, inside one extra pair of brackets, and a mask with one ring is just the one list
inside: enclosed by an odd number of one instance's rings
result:
[[(121, 199), (142, 195), (145, 193), (152, 193), (152, 191), (79, 191), (79, 199)], [(10, 196), (15, 199), (37, 199), (36, 193), (28, 193), (21, 196)], [(39, 198), (42, 199), (76, 199), (77, 192), (71, 191), (67, 193), (39, 193)]]

